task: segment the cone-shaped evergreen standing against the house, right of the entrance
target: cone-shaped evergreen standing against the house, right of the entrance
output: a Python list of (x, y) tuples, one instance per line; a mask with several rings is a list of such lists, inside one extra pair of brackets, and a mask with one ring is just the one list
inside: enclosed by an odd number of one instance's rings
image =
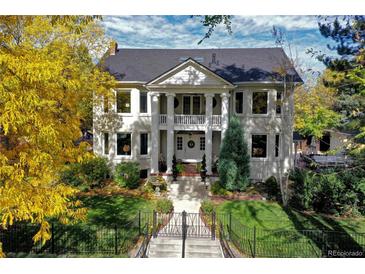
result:
[(249, 184), (250, 156), (240, 121), (233, 116), (219, 154), (219, 177), (224, 188), (244, 191)]

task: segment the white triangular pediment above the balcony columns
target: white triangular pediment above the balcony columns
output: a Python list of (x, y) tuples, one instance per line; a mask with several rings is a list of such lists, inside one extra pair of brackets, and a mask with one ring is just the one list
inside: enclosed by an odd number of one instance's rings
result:
[(221, 76), (189, 58), (147, 83), (148, 85), (231, 86)]

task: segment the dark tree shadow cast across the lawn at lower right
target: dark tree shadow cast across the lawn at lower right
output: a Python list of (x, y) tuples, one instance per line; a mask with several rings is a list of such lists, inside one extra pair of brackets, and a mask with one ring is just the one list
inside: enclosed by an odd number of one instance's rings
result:
[[(343, 257), (338, 252), (362, 252), (365, 247), (365, 235), (349, 233), (336, 220), (329, 217), (321, 217), (320, 221), (315, 216), (283, 207), (283, 210), (293, 222), (296, 230), (305, 237), (311, 239), (321, 250), (322, 257)], [(308, 227), (311, 230), (309, 231)], [(334, 251), (337, 255), (334, 255)], [(345, 257), (359, 257), (358, 255), (345, 255)]]

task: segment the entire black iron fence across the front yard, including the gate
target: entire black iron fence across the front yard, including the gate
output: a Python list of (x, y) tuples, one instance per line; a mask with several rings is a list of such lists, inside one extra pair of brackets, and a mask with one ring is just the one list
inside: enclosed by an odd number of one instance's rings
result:
[[(199, 220), (189, 219), (187, 215), (185, 218), (179, 216), (181, 218), (178, 218), (176, 223), (170, 223), (174, 220), (171, 214), (160, 218), (157, 213), (139, 212), (135, 219), (125, 224), (108, 227), (89, 224), (52, 224), (52, 236), (45, 244), (33, 241), (38, 226), (18, 223), (6, 230), (0, 229), (0, 242), (8, 257), (22, 257), (29, 254), (42, 254), (46, 257), (51, 255), (128, 257), (134, 256), (128, 253), (136, 247), (137, 242), (139, 248), (136, 250), (136, 257), (146, 257), (151, 236), (158, 233), (163, 235), (165, 230), (171, 230), (169, 226), (175, 225), (174, 229), (181, 232), (180, 236), (209, 236), (212, 239), (215, 235), (219, 236), (226, 257), (235, 255), (231, 250), (233, 246), (241, 256), (246, 257), (365, 257), (365, 233), (269, 230), (245, 226), (242, 220), (230, 214), (201, 213), (197, 215)], [(183, 227), (186, 227), (186, 230), (183, 230)], [(189, 229), (194, 233), (189, 234)], [(185, 232), (184, 235), (182, 232)], [(174, 233), (171, 235), (176, 234)]]

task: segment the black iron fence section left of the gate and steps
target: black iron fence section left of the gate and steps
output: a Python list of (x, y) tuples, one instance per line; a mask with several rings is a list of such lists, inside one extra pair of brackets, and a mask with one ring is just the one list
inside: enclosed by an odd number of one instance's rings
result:
[(123, 225), (108, 227), (90, 224), (52, 224), (51, 238), (42, 244), (34, 243), (39, 230), (34, 224), (17, 223), (0, 229), (0, 242), (7, 257), (29, 254), (64, 256), (118, 256), (127, 257), (140, 238), (143, 229), (138, 218)]

